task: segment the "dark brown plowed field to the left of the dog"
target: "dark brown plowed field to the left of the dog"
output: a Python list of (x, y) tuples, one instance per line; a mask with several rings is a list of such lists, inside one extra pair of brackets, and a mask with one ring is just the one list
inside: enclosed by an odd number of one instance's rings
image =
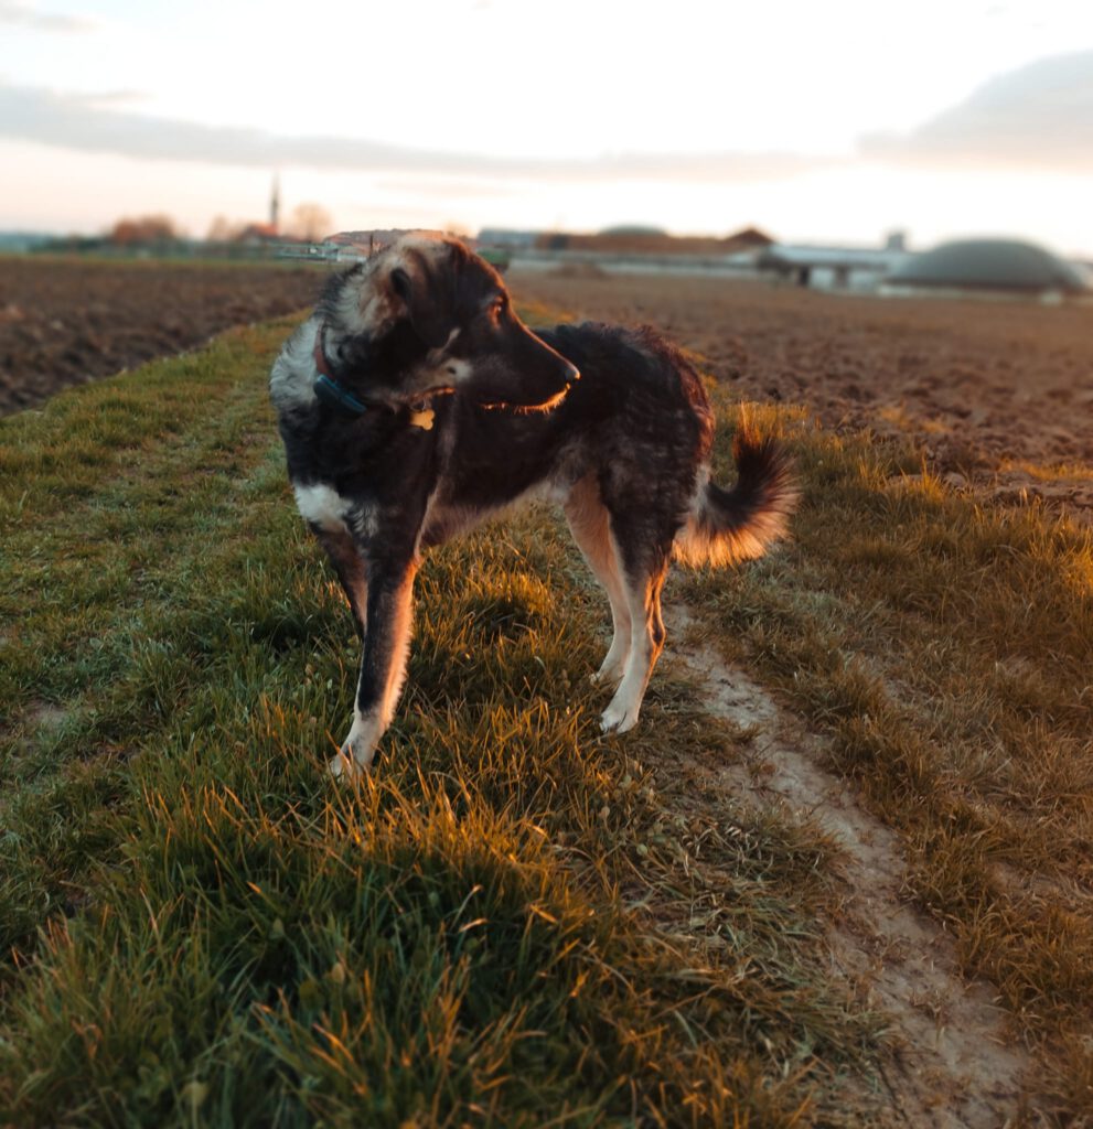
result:
[(312, 269), (0, 259), (0, 415), (308, 306)]

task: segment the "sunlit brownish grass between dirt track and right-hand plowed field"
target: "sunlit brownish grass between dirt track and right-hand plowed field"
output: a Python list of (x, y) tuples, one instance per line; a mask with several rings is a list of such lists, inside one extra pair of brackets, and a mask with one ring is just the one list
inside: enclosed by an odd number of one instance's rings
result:
[(806, 488), (793, 544), (682, 592), (726, 657), (829, 735), (831, 768), (901, 833), (908, 892), (1038, 1050), (1044, 1108), (1086, 1118), (1090, 533), (1035, 506), (974, 505), (909, 449), (780, 419)]

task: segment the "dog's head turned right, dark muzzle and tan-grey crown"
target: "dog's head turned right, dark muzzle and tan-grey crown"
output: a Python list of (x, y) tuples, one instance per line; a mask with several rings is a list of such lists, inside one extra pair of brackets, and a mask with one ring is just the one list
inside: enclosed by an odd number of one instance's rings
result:
[(497, 271), (457, 239), (403, 236), (333, 278), (317, 313), (333, 376), (392, 406), (463, 393), (488, 408), (545, 411), (580, 375), (521, 322)]

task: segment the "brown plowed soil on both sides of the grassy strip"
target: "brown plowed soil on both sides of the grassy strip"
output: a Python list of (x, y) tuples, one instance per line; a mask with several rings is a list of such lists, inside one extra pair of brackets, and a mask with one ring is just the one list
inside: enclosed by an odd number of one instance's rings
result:
[[(0, 260), (0, 414), (311, 305), (322, 275), (252, 265)], [(649, 323), (742, 399), (910, 435), (930, 469), (1093, 519), (1093, 307), (849, 297), (766, 283), (514, 272), (517, 299)]]

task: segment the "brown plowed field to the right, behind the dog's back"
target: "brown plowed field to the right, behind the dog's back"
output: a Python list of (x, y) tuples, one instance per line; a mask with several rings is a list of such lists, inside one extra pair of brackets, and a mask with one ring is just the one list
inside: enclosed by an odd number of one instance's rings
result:
[(910, 435), (954, 487), (1093, 522), (1093, 306), (881, 299), (768, 283), (513, 272), (517, 298), (647, 322), (742, 399)]

